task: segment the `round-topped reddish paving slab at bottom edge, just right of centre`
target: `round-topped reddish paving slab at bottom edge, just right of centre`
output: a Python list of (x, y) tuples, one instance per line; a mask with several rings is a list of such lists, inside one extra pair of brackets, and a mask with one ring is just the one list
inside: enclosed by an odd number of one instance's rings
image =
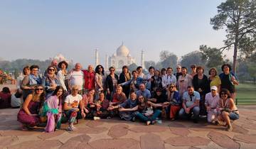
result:
[(140, 137), (142, 149), (164, 149), (164, 142), (155, 134), (149, 133)]

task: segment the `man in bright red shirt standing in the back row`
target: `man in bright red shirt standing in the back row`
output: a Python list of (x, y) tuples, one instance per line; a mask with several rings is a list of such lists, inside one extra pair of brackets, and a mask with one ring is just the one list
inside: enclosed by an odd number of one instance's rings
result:
[(95, 72), (92, 65), (88, 65), (87, 70), (82, 70), (84, 74), (84, 92), (87, 93), (90, 89), (95, 89)]

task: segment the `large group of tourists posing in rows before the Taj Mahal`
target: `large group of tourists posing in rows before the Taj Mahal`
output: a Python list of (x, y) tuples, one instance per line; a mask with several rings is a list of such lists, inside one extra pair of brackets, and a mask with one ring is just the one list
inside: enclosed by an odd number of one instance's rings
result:
[(80, 63), (70, 71), (67, 68), (67, 62), (53, 60), (42, 76), (37, 65), (24, 67), (17, 90), (22, 93), (18, 112), (22, 129), (46, 123), (46, 132), (53, 132), (67, 122), (68, 131), (76, 131), (74, 123), (78, 119), (119, 116), (146, 125), (161, 118), (188, 118), (198, 123), (198, 118), (205, 117), (208, 123), (223, 123), (231, 131), (230, 120), (239, 118), (234, 104), (238, 79), (228, 64), (221, 67), (219, 75), (211, 68), (208, 76), (203, 67), (196, 65), (191, 65), (191, 73), (180, 65), (175, 73), (171, 67), (149, 67), (146, 75), (142, 67), (131, 73), (123, 66), (120, 75), (114, 67), (106, 73), (102, 65), (95, 70), (92, 65), (83, 70)]

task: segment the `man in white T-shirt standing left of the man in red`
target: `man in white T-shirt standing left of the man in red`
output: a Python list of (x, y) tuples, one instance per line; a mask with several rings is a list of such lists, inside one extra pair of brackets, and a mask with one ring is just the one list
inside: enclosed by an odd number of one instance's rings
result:
[(78, 87), (78, 94), (82, 94), (83, 72), (80, 63), (75, 64), (75, 68), (68, 74), (68, 89), (71, 91), (73, 86)]

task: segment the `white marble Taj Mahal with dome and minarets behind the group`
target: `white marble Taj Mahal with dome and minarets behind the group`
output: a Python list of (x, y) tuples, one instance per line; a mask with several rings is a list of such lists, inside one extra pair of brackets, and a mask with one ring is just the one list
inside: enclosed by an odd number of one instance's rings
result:
[[(105, 67), (109, 68), (111, 66), (115, 67), (117, 72), (122, 72), (122, 67), (124, 65), (137, 64), (144, 67), (144, 51), (141, 52), (141, 62), (137, 63), (135, 58), (129, 52), (129, 49), (122, 43), (117, 50), (111, 55), (105, 57)], [(99, 53), (98, 50), (95, 50), (95, 66), (99, 65)], [(107, 70), (107, 69), (106, 69)]]

